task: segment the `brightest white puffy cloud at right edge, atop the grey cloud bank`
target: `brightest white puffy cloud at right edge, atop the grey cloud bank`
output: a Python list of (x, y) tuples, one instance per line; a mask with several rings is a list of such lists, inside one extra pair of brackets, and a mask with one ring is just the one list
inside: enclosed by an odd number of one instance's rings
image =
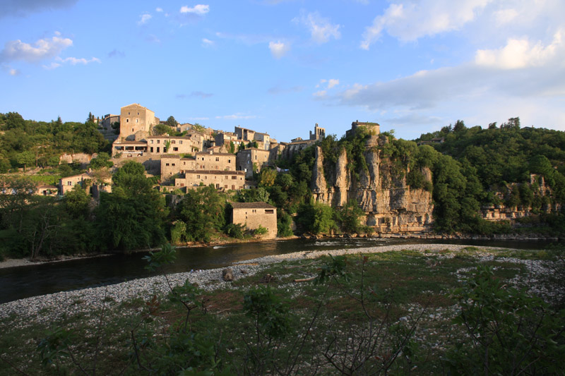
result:
[(506, 46), (500, 49), (480, 49), (475, 54), (475, 63), (502, 69), (543, 66), (557, 54), (564, 55), (561, 57), (565, 58), (564, 52), (563, 32), (559, 30), (547, 46), (541, 41), (534, 44), (528, 38), (524, 38), (510, 39)]

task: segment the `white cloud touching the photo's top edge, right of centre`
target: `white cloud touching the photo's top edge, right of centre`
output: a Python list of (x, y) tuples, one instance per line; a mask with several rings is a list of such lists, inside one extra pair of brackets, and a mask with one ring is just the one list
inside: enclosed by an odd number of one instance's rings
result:
[(360, 47), (369, 49), (383, 31), (404, 42), (427, 35), (458, 30), (475, 20), (492, 0), (422, 0), (417, 3), (401, 0), (386, 8), (373, 24), (365, 28)]

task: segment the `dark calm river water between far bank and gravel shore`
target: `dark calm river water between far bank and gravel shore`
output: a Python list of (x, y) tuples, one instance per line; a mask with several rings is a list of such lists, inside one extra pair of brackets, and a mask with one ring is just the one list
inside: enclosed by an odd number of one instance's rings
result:
[[(547, 242), (535, 241), (423, 241), (420, 239), (331, 238), (323, 240), (292, 239), (261, 243), (237, 243), (213, 247), (177, 248), (177, 262), (167, 272), (191, 269), (214, 269), (233, 262), (267, 255), (308, 250), (374, 247), (414, 243), (456, 243), (509, 248), (545, 248)], [(88, 259), (51, 262), (42, 265), (0, 269), (0, 303), (29, 296), (117, 284), (150, 277), (142, 260), (146, 253), (111, 255)]]

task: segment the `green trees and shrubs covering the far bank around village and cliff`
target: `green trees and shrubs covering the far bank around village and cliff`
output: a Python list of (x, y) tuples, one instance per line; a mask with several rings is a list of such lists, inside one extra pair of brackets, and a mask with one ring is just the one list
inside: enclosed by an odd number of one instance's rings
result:
[[(296, 234), (373, 231), (362, 224), (364, 212), (355, 200), (331, 207), (314, 202), (311, 191), (316, 146), (323, 152), (323, 174), (328, 178), (344, 150), (352, 178), (359, 178), (367, 169), (364, 150), (371, 135), (362, 130), (340, 140), (329, 135), (290, 160), (279, 159), (276, 166), (288, 171), (262, 169), (254, 176), (258, 188), (251, 190), (220, 193), (201, 187), (163, 195), (155, 189), (158, 176), (147, 178), (141, 164), (127, 162), (112, 176), (113, 192), (102, 193), (97, 205), (88, 194), (88, 182), (64, 198), (30, 194), (34, 181), (53, 183), (61, 176), (83, 171), (79, 164), (59, 164), (63, 152), (98, 152), (90, 162), (95, 171), (93, 180), (110, 176), (113, 163), (107, 154), (109, 145), (96, 127), (91, 115), (85, 123), (29, 121), (17, 113), (0, 115), (4, 132), (0, 185), (15, 193), (0, 194), (0, 259), (130, 252), (166, 241), (230, 241), (258, 236), (242, 226), (227, 224), (230, 200), (265, 201), (276, 206), (280, 237), (293, 234), (292, 217)], [(455, 126), (422, 135), (418, 141), (437, 137), (445, 142), (418, 146), (385, 132), (381, 133), (383, 142), (372, 147), (387, 161), (392, 179), (388, 184), (401, 183), (432, 193), (436, 234), (563, 234), (564, 132), (521, 128), (518, 118), (501, 126), (492, 123), (485, 129), (467, 128), (463, 121), (457, 121)], [(34, 174), (18, 170), (34, 165), (40, 167)], [(431, 178), (422, 171), (429, 171)], [(535, 181), (530, 180), (531, 174), (535, 174)], [(541, 178), (545, 182), (543, 191)], [(481, 217), (480, 208), (492, 205), (530, 215), (514, 223), (489, 222)]]

